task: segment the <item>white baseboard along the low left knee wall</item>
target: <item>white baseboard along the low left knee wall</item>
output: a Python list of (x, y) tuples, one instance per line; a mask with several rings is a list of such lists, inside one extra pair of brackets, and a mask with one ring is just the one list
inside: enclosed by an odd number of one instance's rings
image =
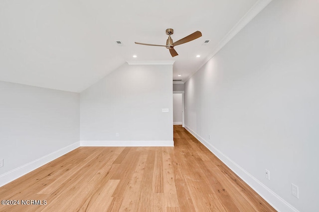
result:
[(52, 160), (78, 148), (80, 146), (80, 142), (77, 141), (75, 143), (72, 143), (68, 146), (65, 146), (57, 151), (54, 151), (50, 154), (47, 154), (43, 157), (40, 157), (36, 160), (33, 160), (29, 163), (26, 163), (20, 167), (17, 167), (11, 171), (8, 171), (4, 174), (0, 175), (0, 187), (33, 171), (34, 169), (39, 168), (40, 166), (43, 166), (44, 164), (51, 162)]

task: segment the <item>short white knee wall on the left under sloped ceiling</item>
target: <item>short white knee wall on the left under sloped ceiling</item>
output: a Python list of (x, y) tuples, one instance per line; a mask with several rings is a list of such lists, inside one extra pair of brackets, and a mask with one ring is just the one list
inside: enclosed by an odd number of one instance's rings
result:
[(0, 186), (79, 145), (79, 97), (0, 81)]

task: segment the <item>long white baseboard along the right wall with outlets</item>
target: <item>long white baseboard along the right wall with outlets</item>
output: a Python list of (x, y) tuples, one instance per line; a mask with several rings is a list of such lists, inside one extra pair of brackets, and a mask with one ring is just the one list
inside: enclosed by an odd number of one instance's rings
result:
[(215, 154), (226, 166), (235, 172), (245, 183), (247, 183), (255, 192), (257, 192), (264, 200), (266, 200), (278, 212), (299, 212), (292, 205), (287, 203), (284, 199), (278, 196), (275, 192), (270, 190), (267, 186), (257, 180), (253, 175), (248, 173), (237, 163), (223, 154), (220, 150), (214, 147), (202, 137), (197, 135), (194, 131), (185, 125), (185, 129), (192, 134), (198, 141), (204, 144), (213, 154)]

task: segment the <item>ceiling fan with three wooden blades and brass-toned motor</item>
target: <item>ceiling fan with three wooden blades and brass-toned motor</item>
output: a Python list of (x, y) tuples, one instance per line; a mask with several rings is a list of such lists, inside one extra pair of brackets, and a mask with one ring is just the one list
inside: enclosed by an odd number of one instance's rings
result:
[(147, 44), (147, 43), (138, 43), (138, 42), (135, 42), (136, 44), (141, 44), (141, 45), (147, 45), (147, 46), (164, 46), (166, 47), (166, 49), (169, 49), (169, 52), (170, 52), (170, 55), (172, 57), (175, 57), (177, 56), (177, 52), (174, 50), (174, 46), (177, 46), (177, 45), (180, 45), (180, 44), (183, 44), (183, 43), (187, 43), (189, 41), (192, 41), (192, 40), (195, 40), (199, 37), (201, 37), (201, 32), (200, 31), (196, 31), (176, 42), (173, 42), (173, 40), (171, 39), (170, 35), (172, 35), (174, 33), (174, 30), (173, 29), (166, 29), (166, 35), (168, 35), (168, 38), (166, 40), (166, 45), (155, 45), (155, 44)]

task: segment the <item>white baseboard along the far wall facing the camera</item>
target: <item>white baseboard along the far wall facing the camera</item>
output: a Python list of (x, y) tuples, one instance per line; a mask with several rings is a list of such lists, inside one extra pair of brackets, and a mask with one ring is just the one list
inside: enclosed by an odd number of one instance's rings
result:
[(174, 141), (80, 141), (81, 146), (174, 146)]

